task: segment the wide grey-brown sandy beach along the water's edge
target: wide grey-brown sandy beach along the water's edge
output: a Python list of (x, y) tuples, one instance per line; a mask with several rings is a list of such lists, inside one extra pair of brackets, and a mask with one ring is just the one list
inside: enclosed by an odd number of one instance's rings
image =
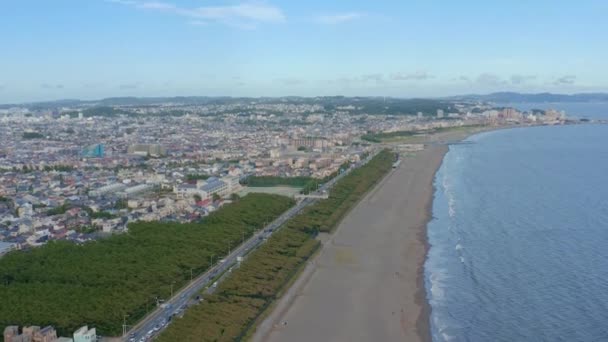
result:
[(427, 137), (435, 143), (404, 157), (324, 238), (252, 340), (430, 341), (424, 262), (440, 141), (469, 134)]

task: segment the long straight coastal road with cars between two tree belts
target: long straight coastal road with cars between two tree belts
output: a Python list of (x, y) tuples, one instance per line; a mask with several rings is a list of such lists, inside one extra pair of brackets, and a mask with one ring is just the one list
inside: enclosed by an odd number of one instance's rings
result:
[[(345, 172), (342, 172), (327, 183), (323, 184), (321, 187), (319, 187), (316, 194), (325, 194), (336, 182), (350, 173), (351, 170), (367, 164), (367, 162), (369, 162), (377, 153), (378, 151), (371, 153), (364, 161), (357, 163)], [(245, 256), (259, 247), (274, 232), (281, 228), (281, 226), (287, 220), (298, 214), (304, 207), (316, 201), (317, 199), (314, 198), (305, 198), (299, 201), (295, 206), (284, 212), (264, 229), (255, 233), (251, 238), (245, 241), (245, 243), (233, 250), (228, 256), (211, 267), (207, 272), (194, 279), (190, 284), (188, 284), (188, 286), (179, 290), (173, 296), (173, 298), (168, 299), (165, 303), (163, 303), (162, 307), (154, 310), (145, 319), (140, 321), (130, 331), (128, 331), (126, 336), (123, 336), (123, 340), (141, 342), (152, 340), (164, 328), (166, 328), (168, 324), (170, 324), (173, 317), (182, 315), (189, 305), (195, 303), (197, 301), (196, 297), (201, 296), (201, 291), (206, 286), (209, 285), (207, 293), (212, 293), (217, 285), (210, 284), (212, 280), (216, 279), (219, 275), (224, 274), (224, 276), (216, 280), (218, 283), (221, 282), (228, 275), (232, 267), (237, 263), (238, 257)]]

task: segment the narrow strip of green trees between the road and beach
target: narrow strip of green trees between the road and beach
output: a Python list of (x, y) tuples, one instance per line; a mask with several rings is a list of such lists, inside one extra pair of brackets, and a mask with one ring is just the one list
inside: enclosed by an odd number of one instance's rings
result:
[(319, 247), (319, 231), (331, 231), (362, 196), (391, 169), (394, 154), (383, 151), (354, 170), (332, 189), (329, 199), (289, 220), (253, 252), (215, 294), (176, 319), (157, 339), (173, 341), (238, 341), (246, 339), (269, 307)]

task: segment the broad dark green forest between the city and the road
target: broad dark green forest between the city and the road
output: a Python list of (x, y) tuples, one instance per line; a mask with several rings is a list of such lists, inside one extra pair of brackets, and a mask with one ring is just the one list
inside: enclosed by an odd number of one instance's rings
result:
[(250, 194), (202, 223), (138, 222), (129, 233), (76, 245), (55, 241), (0, 259), (0, 326), (53, 325), (68, 335), (83, 324), (118, 335), (294, 204)]

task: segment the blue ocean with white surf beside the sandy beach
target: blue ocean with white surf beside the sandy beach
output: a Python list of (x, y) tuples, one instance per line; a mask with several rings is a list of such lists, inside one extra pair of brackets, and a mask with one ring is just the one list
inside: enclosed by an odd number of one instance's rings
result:
[[(608, 105), (586, 117), (607, 118)], [(467, 142), (435, 177), (433, 340), (608, 341), (608, 126)]]

